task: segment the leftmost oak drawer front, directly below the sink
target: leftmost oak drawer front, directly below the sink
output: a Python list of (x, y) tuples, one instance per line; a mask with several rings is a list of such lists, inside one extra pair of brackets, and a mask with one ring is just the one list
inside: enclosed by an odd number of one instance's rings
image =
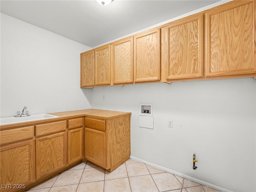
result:
[(6, 144), (34, 136), (34, 126), (21, 127), (11, 130), (4, 130), (0, 132), (0, 144)]

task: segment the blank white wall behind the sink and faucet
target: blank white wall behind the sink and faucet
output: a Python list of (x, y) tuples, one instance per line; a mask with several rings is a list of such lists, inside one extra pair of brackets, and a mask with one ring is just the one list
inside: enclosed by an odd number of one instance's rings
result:
[(91, 108), (80, 89), (84, 46), (1, 13), (1, 117)]

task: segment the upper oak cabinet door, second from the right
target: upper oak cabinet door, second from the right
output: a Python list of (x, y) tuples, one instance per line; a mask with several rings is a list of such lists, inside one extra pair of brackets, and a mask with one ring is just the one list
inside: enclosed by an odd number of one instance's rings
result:
[(203, 76), (203, 14), (171, 22), (168, 34), (167, 79)]

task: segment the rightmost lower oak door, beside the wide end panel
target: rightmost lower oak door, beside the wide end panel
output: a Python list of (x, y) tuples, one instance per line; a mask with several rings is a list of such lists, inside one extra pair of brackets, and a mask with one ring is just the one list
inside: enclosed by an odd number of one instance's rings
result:
[(85, 158), (106, 167), (106, 133), (85, 128)]

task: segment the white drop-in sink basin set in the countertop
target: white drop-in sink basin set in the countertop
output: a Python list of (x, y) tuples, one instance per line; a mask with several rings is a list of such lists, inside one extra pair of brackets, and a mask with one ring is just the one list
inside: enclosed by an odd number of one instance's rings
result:
[(56, 117), (58, 116), (50, 115), (50, 114), (36, 114), (36, 115), (30, 115), (30, 116), (24, 116), (24, 117), (5, 117), (5, 118), (0, 118), (0, 125), (21, 123), (21, 122), (27, 122), (27, 121), (37, 121), (37, 120), (51, 119)]

